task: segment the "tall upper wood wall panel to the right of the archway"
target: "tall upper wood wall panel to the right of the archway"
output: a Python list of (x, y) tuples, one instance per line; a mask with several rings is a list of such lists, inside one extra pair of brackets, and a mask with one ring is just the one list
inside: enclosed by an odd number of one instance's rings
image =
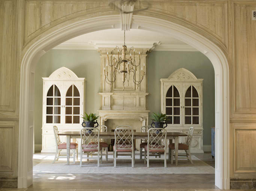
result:
[(238, 116), (249, 114), (247, 117), (256, 113), (256, 21), (252, 10), (256, 10), (256, 3), (234, 3), (234, 109)]

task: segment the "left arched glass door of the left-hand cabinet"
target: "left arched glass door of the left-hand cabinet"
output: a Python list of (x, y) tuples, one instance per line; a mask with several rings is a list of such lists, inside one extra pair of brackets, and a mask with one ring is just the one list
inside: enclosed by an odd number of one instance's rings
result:
[(46, 123), (60, 123), (61, 94), (57, 85), (53, 84), (46, 95)]

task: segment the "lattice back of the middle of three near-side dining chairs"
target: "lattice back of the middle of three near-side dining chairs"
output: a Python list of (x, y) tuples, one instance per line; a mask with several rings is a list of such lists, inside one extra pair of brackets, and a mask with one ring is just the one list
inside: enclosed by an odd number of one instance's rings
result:
[(129, 125), (115, 129), (115, 148), (119, 150), (133, 149), (133, 130)]

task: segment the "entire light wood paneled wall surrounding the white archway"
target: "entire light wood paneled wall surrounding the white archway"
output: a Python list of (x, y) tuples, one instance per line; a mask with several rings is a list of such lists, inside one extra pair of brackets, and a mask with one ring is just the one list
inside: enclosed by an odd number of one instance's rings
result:
[[(135, 7), (143, 6), (136, 4)], [(254, 0), (150, 0), (137, 14), (165, 19), (207, 37), (230, 66), (231, 178), (256, 177), (256, 21)], [(21, 59), (40, 37), (79, 19), (118, 14), (108, 0), (0, 1), (0, 177), (16, 177)], [(17, 22), (19, 19), (19, 23)], [(3, 137), (3, 139), (1, 138)], [(246, 157), (244, 157), (246, 156)]]

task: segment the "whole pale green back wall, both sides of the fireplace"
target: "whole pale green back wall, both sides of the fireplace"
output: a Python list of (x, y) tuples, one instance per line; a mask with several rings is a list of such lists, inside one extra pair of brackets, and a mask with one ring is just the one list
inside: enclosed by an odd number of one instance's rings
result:
[[(78, 77), (86, 78), (86, 112), (100, 109), (101, 91), (100, 56), (96, 50), (50, 50), (36, 66), (35, 77), (35, 144), (42, 144), (42, 77), (48, 77), (60, 67), (71, 69)], [(211, 129), (214, 125), (214, 69), (210, 60), (200, 52), (153, 51), (148, 55), (147, 109), (160, 112), (160, 78), (179, 68), (186, 68), (197, 78), (203, 78), (203, 125), (204, 145), (211, 144)]]

